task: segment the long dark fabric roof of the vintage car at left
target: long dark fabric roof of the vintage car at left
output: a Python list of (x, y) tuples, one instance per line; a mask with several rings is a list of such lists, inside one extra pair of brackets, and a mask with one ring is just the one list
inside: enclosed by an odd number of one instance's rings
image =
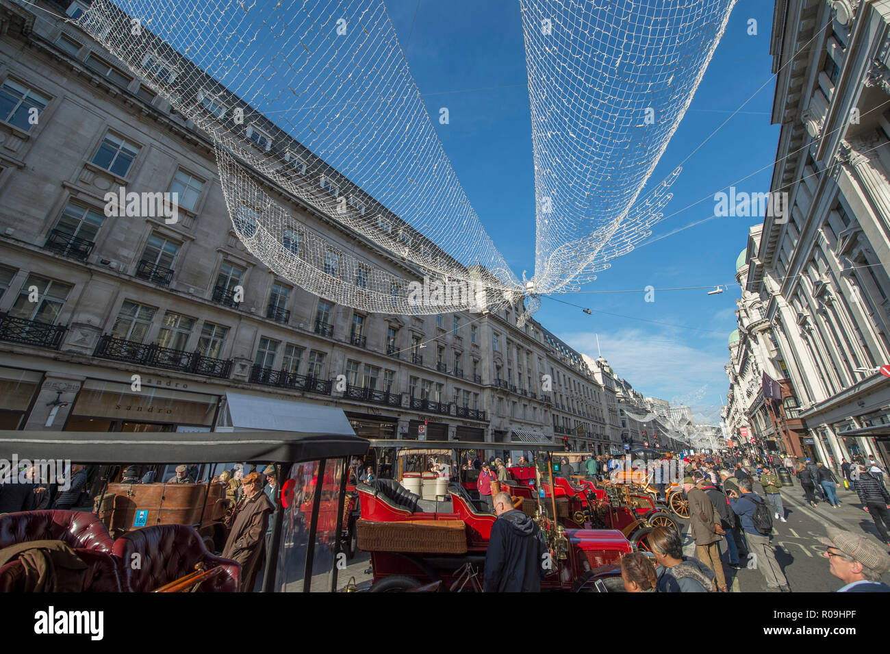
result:
[(288, 463), (361, 456), (368, 440), (326, 432), (0, 431), (0, 458), (76, 464)]

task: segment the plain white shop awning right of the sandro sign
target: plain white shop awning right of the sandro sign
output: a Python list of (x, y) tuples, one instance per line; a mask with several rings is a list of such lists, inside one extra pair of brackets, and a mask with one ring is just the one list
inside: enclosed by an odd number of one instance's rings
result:
[(226, 415), (217, 431), (355, 435), (341, 408), (240, 392), (225, 397)]

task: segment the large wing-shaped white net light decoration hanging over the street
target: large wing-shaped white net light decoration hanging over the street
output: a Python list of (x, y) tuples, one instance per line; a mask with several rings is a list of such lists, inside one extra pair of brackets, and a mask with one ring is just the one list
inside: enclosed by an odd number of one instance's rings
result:
[[(275, 273), (364, 311), (479, 311), (524, 296), (530, 314), (539, 295), (595, 279), (663, 217), (679, 171), (640, 191), (733, 2), (520, 4), (537, 206), (530, 280), (510, 270), (466, 198), (381, 0), (94, 0), (77, 22), (214, 141), (234, 230)], [(276, 187), (392, 253), (404, 274), (312, 229)]]

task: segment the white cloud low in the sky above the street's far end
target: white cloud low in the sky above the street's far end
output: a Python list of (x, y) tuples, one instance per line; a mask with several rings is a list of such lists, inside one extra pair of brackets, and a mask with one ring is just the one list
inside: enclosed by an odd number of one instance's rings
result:
[[(627, 379), (636, 391), (647, 397), (682, 400), (691, 405), (695, 422), (718, 424), (718, 396), (725, 397), (729, 381), (724, 364), (729, 360), (723, 342), (698, 339), (686, 343), (681, 335), (662, 332), (648, 334), (641, 329), (625, 329), (600, 334), (603, 358), (616, 375)], [(688, 337), (688, 336), (687, 336)], [(563, 339), (581, 352), (596, 351), (593, 333), (566, 335)], [(587, 357), (588, 365), (592, 363)], [(713, 401), (708, 401), (713, 398)]]

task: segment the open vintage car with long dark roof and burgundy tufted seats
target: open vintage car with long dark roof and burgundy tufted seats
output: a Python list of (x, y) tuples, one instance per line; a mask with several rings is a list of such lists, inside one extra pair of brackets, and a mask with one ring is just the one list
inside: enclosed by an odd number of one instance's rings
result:
[[(272, 513), (263, 592), (334, 592), (343, 524), (348, 462), (368, 451), (368, 440), (348, 433), (307, 432), (16, 432), (0, 431), (0, 458), (68, 460), (79, 464), (214, 464), (246, 461), (278, 467), (279, 496)], [(138, 486), (138, 484), (134, 485)], [(173, 488), (167, 484), (166, 488)], [(209, 494), (208, 496), (209, 497)], [(100, 503), (101, 504), (101, 503)], [(119, 515), (119, 514), (118, 514)], [(118, 518), (119, 519), (119, 518)], [(92, 513), (45, 511), (0, 516), (0, 550), (29, 540), (63, 540), (95, 567), (91, 592), (182, 592), (200, 586), (235, 591), (240, 567), (208, 551), (186, 524), (130, 525), (112, 538)], [(142, 516), (140, 516), (142, 521)], [(133, 553), (146, 561), (130, 565)], [(21, 574), (0, 567), (0, 588), (14, 590)], [(196, 565), (202, 569), (195, 569)]]

